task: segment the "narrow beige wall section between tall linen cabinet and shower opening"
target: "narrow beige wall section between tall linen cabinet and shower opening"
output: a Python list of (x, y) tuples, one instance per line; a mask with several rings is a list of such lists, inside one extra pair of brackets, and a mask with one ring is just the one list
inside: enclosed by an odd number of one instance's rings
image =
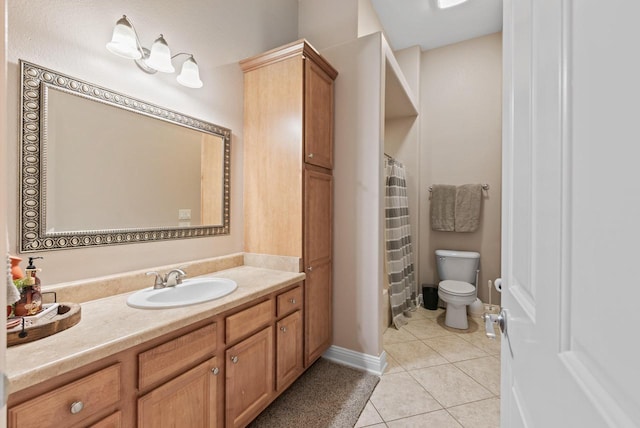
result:
[(335, 83), (333, 345), (377, 357), (384, 248), (380, 35), (322, 54), (340, 73)]

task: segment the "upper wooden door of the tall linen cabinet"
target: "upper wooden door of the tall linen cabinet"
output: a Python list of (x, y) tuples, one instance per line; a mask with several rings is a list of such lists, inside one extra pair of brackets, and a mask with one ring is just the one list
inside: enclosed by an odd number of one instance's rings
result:
[(305, 162), (333, 169), (333, 79), (305, 59)]

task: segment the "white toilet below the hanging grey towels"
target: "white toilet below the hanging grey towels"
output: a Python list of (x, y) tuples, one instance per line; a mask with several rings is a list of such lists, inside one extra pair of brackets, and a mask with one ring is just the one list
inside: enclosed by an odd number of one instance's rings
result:
[(476, 282), (480, 253), (474, 251), (436, 250), (438, 297), (447, 302), (444, 324), (465, 330), (467, 305), (476, 300)]

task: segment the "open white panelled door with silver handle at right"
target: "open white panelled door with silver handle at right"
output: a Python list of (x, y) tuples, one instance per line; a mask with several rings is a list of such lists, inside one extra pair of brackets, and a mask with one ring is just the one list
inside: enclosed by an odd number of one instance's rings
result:
[(639, 17), (504, 0), (503, 428), (640, 426)]

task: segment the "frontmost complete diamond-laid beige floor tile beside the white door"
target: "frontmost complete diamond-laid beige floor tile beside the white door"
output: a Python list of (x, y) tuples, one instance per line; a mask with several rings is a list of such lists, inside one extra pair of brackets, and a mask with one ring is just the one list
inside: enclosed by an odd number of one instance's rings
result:
[(453, 364), (428, 367), (409, 373), (444, 407), (493, 397), (491, 391)]

